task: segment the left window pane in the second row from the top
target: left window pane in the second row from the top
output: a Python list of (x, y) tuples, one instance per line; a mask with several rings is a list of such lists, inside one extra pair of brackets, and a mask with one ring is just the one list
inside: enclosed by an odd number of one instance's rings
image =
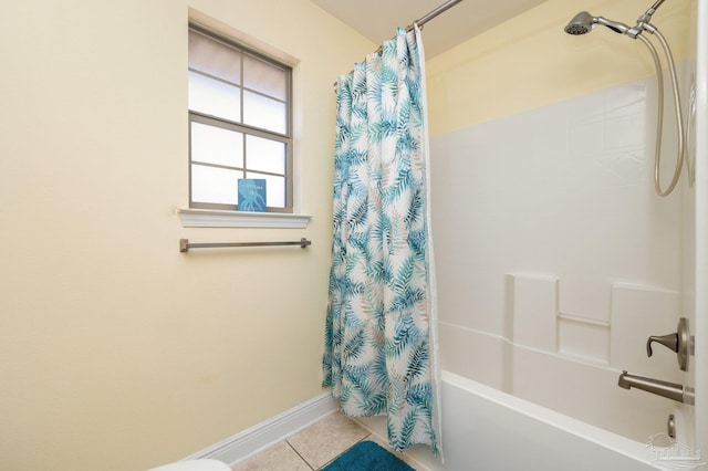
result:
[(189, 109), (233, 122), (241, 121), (240, 88), (189, 71)]

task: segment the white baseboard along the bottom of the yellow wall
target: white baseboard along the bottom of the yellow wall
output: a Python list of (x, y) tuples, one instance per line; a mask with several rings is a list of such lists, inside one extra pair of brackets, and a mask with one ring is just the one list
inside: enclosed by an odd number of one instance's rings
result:
[(185, 460), (210, 458), (233, 465), (239, 461), (284, 440), (287, 437), (339, 410), (339, 401), (330, 393), (310, 399), (278, 416), (205, 448)]

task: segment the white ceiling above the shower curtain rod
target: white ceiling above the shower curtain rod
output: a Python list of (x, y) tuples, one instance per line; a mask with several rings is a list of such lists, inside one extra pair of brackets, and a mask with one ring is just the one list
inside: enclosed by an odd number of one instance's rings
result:
[[(376, 44), (435, 10), (445, 0), (310, 0)], [(430, 59), (545, 0), (462, 0), (424, 27)]]

